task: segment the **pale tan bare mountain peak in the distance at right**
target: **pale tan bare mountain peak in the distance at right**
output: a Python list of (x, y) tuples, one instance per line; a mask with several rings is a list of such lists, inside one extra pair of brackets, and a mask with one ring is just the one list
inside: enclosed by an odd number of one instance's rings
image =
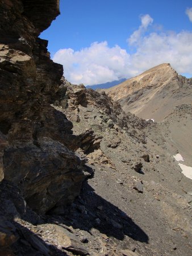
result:
[(192, 101), (192, 79), (178, 75), (169, 63), (104, 90), (124, 112), (157, 122), (172, 113), (174, 106)]

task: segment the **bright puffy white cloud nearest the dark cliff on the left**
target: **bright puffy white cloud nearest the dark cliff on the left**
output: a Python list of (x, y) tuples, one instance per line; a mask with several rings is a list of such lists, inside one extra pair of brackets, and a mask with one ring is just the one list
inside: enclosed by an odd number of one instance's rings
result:
[(127, 76), (130, 55), (119, 46), (94, 42), (80, 51), (60, 49), (53, 60), (64, 66), (65, 77), (74, 83), (99, 84)]

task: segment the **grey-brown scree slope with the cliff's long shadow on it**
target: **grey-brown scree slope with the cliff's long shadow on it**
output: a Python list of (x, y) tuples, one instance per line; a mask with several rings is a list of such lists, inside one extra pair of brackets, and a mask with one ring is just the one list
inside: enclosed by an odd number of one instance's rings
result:
[[(159, 126), (130, 114), (128, 129), (120, 127), (120, 121), (108, 119), (122, 116), (110, 101), (107, 114), (105, 94), (83, 86), (68, 91), (68, 108), (60, 110), (73, 120), (75, 134), (91, 127), (101, 147), (79, 152), (82, 158), (86, 154), (94, 174), (73, 208), (65, 209), (70, 216), (65, 224), (74, 222), (86, 234), (87, 245), (94, 249), (91, 255), (123, 255), (124, 249), (139, 255), (190, 255), (191, 180), (181, 174)], [(85, 97), (86, 106), (76, 105), (77, 98), (85, 102)], [(97, 243), (103, 233), (108, 237), (104, 249)]]

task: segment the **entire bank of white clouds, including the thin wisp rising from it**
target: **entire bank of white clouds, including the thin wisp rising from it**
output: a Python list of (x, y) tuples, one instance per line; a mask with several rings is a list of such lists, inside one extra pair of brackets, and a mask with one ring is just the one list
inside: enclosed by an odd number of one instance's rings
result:
[(64, 66), (64, 76), (74, 84), (100, 84), (130, 78), (161, 63), (170, 63), (178, 73), (191, 73), (192, 32), (181, 31), (145, 34), (152, 24), (151, 16), (143, 15), (141, 25), (127, 39), (128, 48), (109, 47), (107, 42), (94, 42), (90, 47), (74, 51), (60, 49), (53, 60)]

